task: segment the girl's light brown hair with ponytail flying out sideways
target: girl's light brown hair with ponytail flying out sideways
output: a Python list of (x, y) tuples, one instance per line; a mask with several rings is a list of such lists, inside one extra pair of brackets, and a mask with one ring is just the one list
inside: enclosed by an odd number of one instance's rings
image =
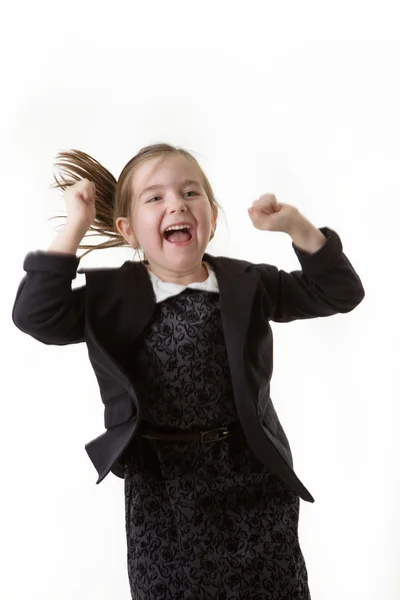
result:
[[(126, 217), (129, 222), (131, 222), (132, 190), (135, 172), (137, 171), (138, 166), (144, 161), (150, 158), (160, 157), (161, 163), (171, 154), (180, 154), (195, 165), (210, 202), (213, 214), (215, 217), (218, 217), (219, 211), (222, 211), (222, 207), (215, 198), (206, 174), (194, 156), (183, 148), (164, 143), (152, 144), (141, 148), (141, 150), (139, 150), (139, 152), (131, 158), (122, 169), (118, 181), (110, 171), (85, 152), (81, 152), (80, 150), (70, 150), (68, 152), (59, 152), (57, 154), (55, 167), (61, 171), (61, 180), (58, 180), (56, 175), (54, 175), (55, 183), (50, 187), (60, 188), (64, 191), (68, 186), (74, 185), (74, 183), (81, 179), (89, 179), (92, 181), (96, 186), (96, 217), (88, 231), (94, 231), (95, 233), (91, 236), (86, 234), (84, 237), (105, 236), (109, 238), (107, 241), (95, 245), (80, 244), (78, 249), (87, 249), (87, 252), (85, 252), (82, 257), (93, 250), (129, 246), (117, 230), (115, 223), (118, 217)], [(159, 163), (157, 163), (156, 167), (158, 164)], [(58, 215), (52, 218), (66, 219), (67, 217), (66, 215)], [(211, 234), (210, 240), (214, 237), (214, 233), (215, 229)]]

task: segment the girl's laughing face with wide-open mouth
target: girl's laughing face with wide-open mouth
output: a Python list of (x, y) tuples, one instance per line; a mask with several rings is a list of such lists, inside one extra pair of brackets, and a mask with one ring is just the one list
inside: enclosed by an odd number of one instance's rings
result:
[[(117, 228), (132, 247), (142, 248), (150, 269), (161, 278), (199, 276), (216, 215), (194, 164), (177, 154), (155, 168), (159, 160), (149, 159), (136, 171), (132, 224), (120, 218)], [(168, 239), (165, 230), (180, 224), (189, 227), (190, 235)]]

